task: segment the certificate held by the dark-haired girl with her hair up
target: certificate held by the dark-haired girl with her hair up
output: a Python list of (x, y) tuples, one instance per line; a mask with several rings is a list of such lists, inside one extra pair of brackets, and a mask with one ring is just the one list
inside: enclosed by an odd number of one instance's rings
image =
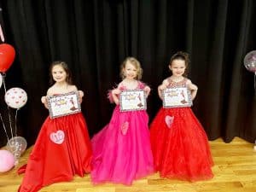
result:
[(191, 107), (191, 93), (186, 87), (169, 88), (163, 90), (163, 108)]

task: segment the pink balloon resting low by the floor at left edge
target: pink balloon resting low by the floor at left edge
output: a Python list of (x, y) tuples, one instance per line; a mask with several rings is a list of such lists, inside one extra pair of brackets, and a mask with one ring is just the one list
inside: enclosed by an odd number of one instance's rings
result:
[(8, 150), (0, 150), (0, 172), (8, 172), (15, 166), (15, 156)]

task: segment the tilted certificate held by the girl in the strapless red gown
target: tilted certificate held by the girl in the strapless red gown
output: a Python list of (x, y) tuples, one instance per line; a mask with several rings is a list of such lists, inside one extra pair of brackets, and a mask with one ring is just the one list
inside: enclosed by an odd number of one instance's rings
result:
[(48, 96), (49, 116), (51, 119), (81, 112), (78, 92)]

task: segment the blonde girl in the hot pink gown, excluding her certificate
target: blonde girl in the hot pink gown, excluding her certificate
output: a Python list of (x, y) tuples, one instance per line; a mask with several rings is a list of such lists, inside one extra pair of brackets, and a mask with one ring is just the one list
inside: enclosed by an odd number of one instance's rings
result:
[(91, 141), (93, 183), (130, 185), (134, 179), (154, 172), (148, 113), (145, 110), (121, 112), (119, 106), (119, 94), (122, 91), (144, 90), (148, 96), (150, 88), (139, 81), (142, 78), (142, 68), (135, 58), (126, 58), (120, 70), (123, 80), (109, 93), (110, 100), (116, 104), (112, 118)]

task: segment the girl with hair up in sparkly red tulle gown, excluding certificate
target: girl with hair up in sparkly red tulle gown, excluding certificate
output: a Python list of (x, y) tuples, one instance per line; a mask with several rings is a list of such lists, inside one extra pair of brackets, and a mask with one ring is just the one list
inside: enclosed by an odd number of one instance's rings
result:
[[(178, 87), (187, 87), (191, 99), (195, 98), (197, 86), (184, 77), (188, 64), (188, 54), (177, 52), (172, 56), (172, 76), (158, 87), (161, 99), (163, 90)], [(149, 129), (154, 167), (160, 177), (189, 181), (213, 177), (207, 135), (191, 108), (160, 108)]]

